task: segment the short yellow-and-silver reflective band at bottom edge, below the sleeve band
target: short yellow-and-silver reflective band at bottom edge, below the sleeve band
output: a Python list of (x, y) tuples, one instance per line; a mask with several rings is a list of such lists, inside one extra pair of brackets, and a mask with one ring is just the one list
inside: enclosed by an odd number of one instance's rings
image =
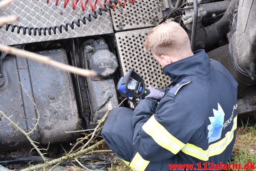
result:
[(133, 157), (131, 163), (129, 164), (129, 167), (133, 171), (144, 171), (149, 164), (149, 161), (144, 160), (141, 155), (137, 152), (135, 156)]

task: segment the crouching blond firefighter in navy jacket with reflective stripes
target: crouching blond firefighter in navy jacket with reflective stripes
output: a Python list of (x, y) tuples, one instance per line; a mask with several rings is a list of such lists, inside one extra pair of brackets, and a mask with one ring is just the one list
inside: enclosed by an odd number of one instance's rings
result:
[(150, 87), (134, 111), (118, 107), (106, 120), (103, 138), (132, 170), (166, 171), (169, 164), (205, 168), (232, 156), (238, 83), (204, 50), (193, 53), (189, 42), (175, 22), (153, 28), (145, 48), (173, 87), (166, 92)]

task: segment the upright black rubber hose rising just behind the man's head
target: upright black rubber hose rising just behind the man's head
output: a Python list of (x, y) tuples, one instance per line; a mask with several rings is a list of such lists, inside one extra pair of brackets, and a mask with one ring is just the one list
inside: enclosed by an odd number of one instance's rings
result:
[(194, 52), (195, 50), (195, 41), (196, 41), (196, 29), (197, 29), (197, 19), (198, 19), (197, 0), (194, 0), (193, 6), (194, 6), (194, 18), (193, 18), (191, 44), (190, 44), (192, 52)]

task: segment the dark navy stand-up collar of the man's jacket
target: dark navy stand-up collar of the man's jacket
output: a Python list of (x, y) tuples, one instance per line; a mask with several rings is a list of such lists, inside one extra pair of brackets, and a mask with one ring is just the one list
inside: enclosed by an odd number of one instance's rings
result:
[(204, 50), (195, 51), (193, 56), (166, 65), (163, 69), (163, 72), (175, 82), (192, 75), (204, 76), (211, 71), (212, 65)]

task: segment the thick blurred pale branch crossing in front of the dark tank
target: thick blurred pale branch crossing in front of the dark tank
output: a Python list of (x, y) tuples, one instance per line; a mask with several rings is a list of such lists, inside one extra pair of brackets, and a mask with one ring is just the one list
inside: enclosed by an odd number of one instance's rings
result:
[(36, 54), (33, 52), (20, 50), (15, 47), (0, 45), (0, 51), (6, 52), (6, 53), (9, 53), (12, 55), (16, 55), (19, 57), (25, 57), (27, 59), (37, 61), (41, 64), (50, 65), (50, 66), (53, 66), (60, 70), (68, 71), (68, 72), (71, 72), (74, 74), (78, 74), (78, 75), (82, 75), (82, 76), (86, 76), (86, 77), (96, 77), (97, 76), (97, 73), (95, 71), (85, 70), (85, 69), (77, 68), (77, 67), (74, 67), (71, 65), (66, 65), (61, 62), (52, 60), (51, 57), (49, 57), (49, 56), (43, 56), (43, 55), (39, 55), (39, 54)]

